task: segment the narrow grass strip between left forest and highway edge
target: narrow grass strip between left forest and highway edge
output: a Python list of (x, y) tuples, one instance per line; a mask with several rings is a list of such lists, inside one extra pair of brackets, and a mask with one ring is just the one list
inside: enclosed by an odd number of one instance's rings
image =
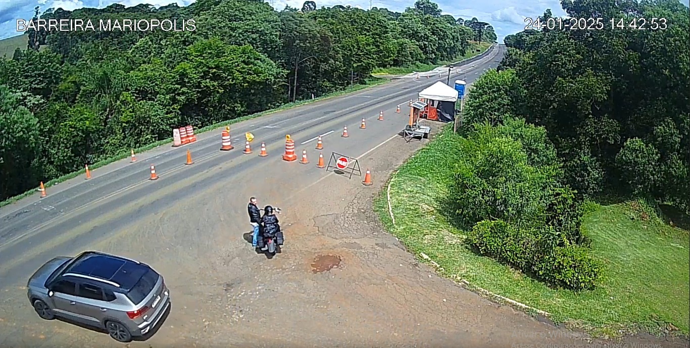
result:
[[(283, 111), (283, 110), (288, 110), (288, 109), (290, 109), (290, 108), (296, 108), (297, 106), (305, 105), (305, 104), (308, 104), (308, 103), (313, 103), (313, 102), (315, 102), (315, 101), (322, 101), (322, 100), (324, 100), (324, 99), (333, 98), (333, 97), (335, 97), (335, 96), (342, 96), (342, 95), (344, 95), (344, 94), (356, 92), (356, 91), (359, 91), (359, 90), (364, 90), (365, 88), (371, 88), (371, 87), (373, 87), (373, 86), (375, 86), (375, 85), (381, 85), (382, 83), (386, 83), (386, 82), (388, 82), (388, 81), (389, 81), (388, 79), (379, 79), (379, 78), (367, 79), (367, 80), (366, 80), (366, 84), (354, 85), (353, 88), (347, 88), (346, 90), (341, 90), (341, 91), (329, 93), (329, 94), (326, 94), (326, 95), (324, 95), (324, 96), (319, 96), (318, 98), (315, 98), (315, 99), (308, 99), (308, 100), (304, 100), (304, 101), (297, 101), (297, 102), (295, 102), (295, 103), (288, 103), (288, 104), (282, 105), (282, 106), (279, 107), (279, 108), (275, 108), (275, 109), (271, 109), (271, 110), (266, 110), (266, 111), (264, 111), (264, 112), (259, 112), (259, 113), (257, 113), (257, 114), (251, 114), (251, 115), (247, 115), (247, 116), (238, 117), (237, 119), (231, 119), (231, 120), (223, 121), (223, 122), (216, 123), (216, 124), (213, 124), (213, 125), (207, 125), (206, 127), (202, 127), (202, 128), (199, 129), (199, 130), (195, 130), (195, 134), (200, 134), (200, 133), (203, 133), (203, 132), (208, 132), (208, 131), (210, 131), (210, 130), (215, 130), (215, 129), (218, 128), (218, 127), (224, 127), (224, 126), (226, 126), (226, 125), (232, 125), (233, 123), (239, 123), (239, 122), (242, 122), (242, 121), (246, 121), (246, 120), (248, 120), (248, 119), (255, 119), (256, 117), (259, 117), (259, 116), (264, 116), (264, 115), (267, 115), (267, 114), (273, 114), (273, 113), (275, 113), (275, 112), (279, 112), (279, 111)], [(134, 149), (134, 152), (137, 153), (137, 154), (139, 154), (139, 153), (141, 153), (141, 152), (145, 152), (145, 151), (151, 150), (151, 149), (153, 149), (153, 148), (155, 148), (155, 147), (159, 147), (159, 146), (161, 146), (161, 145), (166, 145), (166, 144), (168, 144), (168, 143), (172, 143), (172, 137), (170, 137), (170, 138), (168, 138), (168, 139), (163, 139), (163, 140), (160, 140), (160, 141), (156, 141), (155, 143), (151, 143), (151, 144), (148, 144), (148, 145), (145, 145), (145, 146), (142, 146), (142, 147), (138, 147), (138, 148)], [(123, 159), (123, 158), (127, 158), (127, 157), (129, 157), (129, 156), (130, 156), (130, 150), (122, 150), (122, 152), (120, 152), (120, 153), (117, 154), (116, 156), (112, 156), (112, 157), (103, 159), (103, 160), (101, 160), (101, 161), (98, 161), (98, 162), (96, 162), (96, 163), (90, 164), (90, 165), (89, 165), (89, 170), (95, 170), (95, 169), (97, 169), (97, 168), (99, 168), (99, 167), (103, 167), (103, 166), (105, 166), (105, 165), (108, 165), (108, 164), (113, 163), (113, 162), (115, 162), (115, 161), (119, 161), (119, 160), (121, 160), (121, 159)], [(63, 176), (60, 176), (59, 178), (52, 179), (52, 180), (48, 181), (47, 183), (44, 183), (43, 185), (44, 185), (45, 187), (55, 186), (55, 185), (57, 185), (57, 184), (59, 184), (59, 183), (62, 183), (62, 182), (64, 182), (64, 181), (68, 181), (68, 180), (70, 180), (71, 178), (75, 178), (75, 177), (77, 177), (77, 176), (79, 176), (79, 175), (81, 175), (81, 174), (85, 174), (85, 170), (79, 170), (78, 172), (72, 172), (72, 173), (70, 173), (70, 174), (65, 174), (65, 175), (63, 175)], [(30, 191), (27, 191), (27, 192), (24, 192), (23, 194), (19, 194), (19, 195), (17, 195), (17, 196), (13, 196), (13, 197), (7, 198), (5, 201), (1, 201), (1, 202), (0, 202), (0, 207), (3, 207), (3, 206), (8, 205), (8, 204), (12, 204), (12, 203), (14, 203), (14, 202), (16, 202), (16, 201), (21, 200), (22, 198), (25, 198), (25, 197), (27, 197), (27, 196), (30, 196), (30, 195), (34, 194), (34, 193), (36, 192), (36, 190), (37, 190), (37, 188), (35, 188), (35, 189), (33, 189), (33, 190), (30, 190)]]

